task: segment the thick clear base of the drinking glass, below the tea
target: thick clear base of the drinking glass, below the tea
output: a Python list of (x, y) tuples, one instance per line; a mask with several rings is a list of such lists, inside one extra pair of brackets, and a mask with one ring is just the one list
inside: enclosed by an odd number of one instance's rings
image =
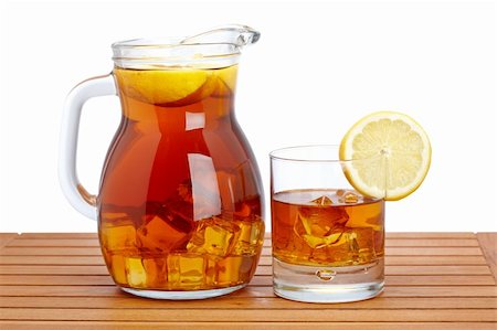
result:
[(383, 258), (360, 266), (300, 266), (273, 258), (274, 292), (304, 302), (350, 302), (383, 291)]

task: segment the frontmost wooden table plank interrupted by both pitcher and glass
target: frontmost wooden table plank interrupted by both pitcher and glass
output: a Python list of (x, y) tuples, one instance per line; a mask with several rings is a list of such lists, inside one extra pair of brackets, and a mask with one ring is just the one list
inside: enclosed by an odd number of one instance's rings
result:
[[(387, 286), (490, 286), (490, 275), (454, 276), (385, 276)], [(0, 275), (0, 285), (18, 286), (112, 286), (110, 276), (105, 275)], [(250, 286), (272, 286), (272, 276), (255, 276)]]

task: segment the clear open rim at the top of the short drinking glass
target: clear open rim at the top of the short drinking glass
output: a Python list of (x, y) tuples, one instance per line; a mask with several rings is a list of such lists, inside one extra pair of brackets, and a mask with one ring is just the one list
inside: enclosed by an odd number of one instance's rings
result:
[[(303, 156), (292, 156), (292, 151), (304, 151), (304, 150), (311, 150), (311, 149), (328, 149), (328, 150), (336, 150), (336, 153), (324, 153), (319, 157), (309, 157), (309, 155), (303, 155)], [(302, 146), (292, 146), (292, 147), (284, 147), (278, 148), (269, 152), (271, 160), (284, 160), (284, 161), (295, 161), (295, 162), (325, 162), (325, 163), (349, 163), (349, 162), (357, 162), (361, 160), (370, 160), (373, 157), (368, 158), (353, 158), (353, 159), (340, 159), (339, 151), (340, 146), (339, 145), (302, 145)], [(281, 155), (281, 153), (289, 153), (289, 155)]]

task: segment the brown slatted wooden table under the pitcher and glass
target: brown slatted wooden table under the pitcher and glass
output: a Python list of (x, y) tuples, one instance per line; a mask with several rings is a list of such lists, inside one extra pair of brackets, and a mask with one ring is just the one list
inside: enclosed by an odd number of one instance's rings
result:
[(161, 301), (113, 285), (96, 234), (1, 234), (0, 329), (497, 329), (497, 233), (389, 233), (384, 292), (336, 305), (275, 297), (269, 246), (247, 288)]

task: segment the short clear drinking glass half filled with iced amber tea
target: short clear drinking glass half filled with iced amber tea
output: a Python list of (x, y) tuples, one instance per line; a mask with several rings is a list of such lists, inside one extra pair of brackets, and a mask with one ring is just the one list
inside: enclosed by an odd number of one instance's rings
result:
[(351, 184), (372, 159), (338, 155), (338, 146), (271, 153), (273, 285), (283, 298), (345, 302), (383, 290), (384, 195)]

